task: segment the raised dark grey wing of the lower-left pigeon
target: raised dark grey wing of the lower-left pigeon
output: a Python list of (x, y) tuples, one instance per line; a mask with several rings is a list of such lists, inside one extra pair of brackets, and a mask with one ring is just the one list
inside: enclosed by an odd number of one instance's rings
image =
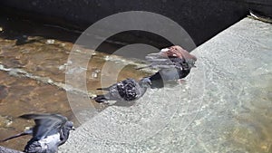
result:
[(44, 139), (52, 129), (61, 130), (67, 118), (59, 114), (25, 114), (20, 118), (34, 120), (33, 139)]

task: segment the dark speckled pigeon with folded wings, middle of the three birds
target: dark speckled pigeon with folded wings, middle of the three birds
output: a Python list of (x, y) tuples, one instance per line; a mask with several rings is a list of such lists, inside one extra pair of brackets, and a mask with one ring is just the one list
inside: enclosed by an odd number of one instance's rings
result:
[(132, 101), (140, 99), (147, 88), (151, 87), (151, 80), (149, 78), (143, 78), (141, 81), (135, 81), (134, 79), (126, 79), (119, 81), (107, 88), (100, 88), (97, 90), (108, 91), (104, 95), (97, 95), (92, 98), (93, 100), (101, 103), (112, 104), (112, 101)]

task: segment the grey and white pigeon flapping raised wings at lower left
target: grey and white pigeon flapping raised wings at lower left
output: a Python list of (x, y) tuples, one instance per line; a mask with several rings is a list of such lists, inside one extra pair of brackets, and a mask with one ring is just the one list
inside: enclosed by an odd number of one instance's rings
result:
[(1, 141), (32, 135), (33, 138), (24, 147), (26, 153), (56, 153), (73, 129), (73, 122), (59, 114), (24, 114), (20, 118), (34, 120), (34, 127)]

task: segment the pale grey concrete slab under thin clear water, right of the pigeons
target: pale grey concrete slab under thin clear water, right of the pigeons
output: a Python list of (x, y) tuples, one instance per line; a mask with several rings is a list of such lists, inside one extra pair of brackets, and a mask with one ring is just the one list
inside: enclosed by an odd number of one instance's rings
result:
[(86, 116), (60, 152), (271, 152), (271, 35), (241, 20), (192, 52), (185, 84)]

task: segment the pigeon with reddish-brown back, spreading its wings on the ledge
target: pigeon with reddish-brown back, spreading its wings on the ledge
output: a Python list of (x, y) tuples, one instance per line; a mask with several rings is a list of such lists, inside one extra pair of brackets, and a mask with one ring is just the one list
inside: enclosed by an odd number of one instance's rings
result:
[(191, 68), (196, 67), (196, 56), (174, 45), (160, 50), (160, 53), (150, 53), (146, 56), (150, 65), (143, 68), (157, 68), (159, 72), (147, 77), (151, 80), (151, 88), (162, 88), (164, 84), (170, 81), (177, 81), (185, 78)]

